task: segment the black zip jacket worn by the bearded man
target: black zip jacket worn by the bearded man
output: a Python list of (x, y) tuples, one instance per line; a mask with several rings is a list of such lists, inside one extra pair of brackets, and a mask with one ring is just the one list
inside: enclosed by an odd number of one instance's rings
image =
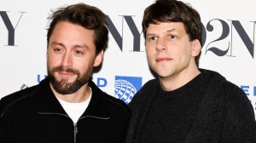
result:
[[(0, 100), (1, 143), (121, 143), (130, 111), (93, 82), (90, 104), (78, 123), (67, 116), (49, 88), (49, 79)], [(76, 134), (76, 135), (75, 135)]]

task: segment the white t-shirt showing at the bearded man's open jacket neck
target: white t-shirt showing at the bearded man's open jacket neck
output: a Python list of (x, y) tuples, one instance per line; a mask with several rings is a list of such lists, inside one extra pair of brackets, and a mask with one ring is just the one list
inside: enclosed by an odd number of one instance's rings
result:
[[(90, 89), (91, 90), (91, 89)], [(86, 108), (88, 107), (91, 99), (91, 94), (88, 98), (88, 100), (85, 100), (81, 103), (70, 103), (65, 100), (61, 100), (57, 98), (59, 102), (61, 103), (61, 106), (67, 112), (67, 115), (73, 120), (73, 123), (77, 123), (79, 120), (79, 117), (82, 116)]]

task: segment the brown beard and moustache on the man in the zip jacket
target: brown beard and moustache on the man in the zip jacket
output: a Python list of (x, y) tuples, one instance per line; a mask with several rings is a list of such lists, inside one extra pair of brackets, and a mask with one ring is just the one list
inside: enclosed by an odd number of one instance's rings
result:
[[(47, 69), (49, 82), (52, 84), (55, 91), (59, 94), (73, 94), (76, 91), (78, 91), (85, 83), (88, 83), (93, 68), (90, 67), (87, 71), (84, 73), (80, 73), (78, 70), (75, 70), (73, 68), (65, 68), (63, 66), (57, 66), (52, 69)], [(77, 75), (77, 78), (73, 83), (69, 83), (68, 79), (61, 79), (58, 81), (55, 77), (55, 72), (69, 72), (73, 73), (74, 75)]]

